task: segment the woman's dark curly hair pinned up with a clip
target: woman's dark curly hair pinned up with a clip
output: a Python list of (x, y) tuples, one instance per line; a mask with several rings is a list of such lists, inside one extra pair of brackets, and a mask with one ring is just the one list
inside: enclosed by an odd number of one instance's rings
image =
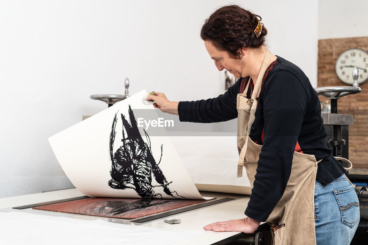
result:
[(237, 5), (221, 7), (206, 19), (201, 39), (211, 42), (221, 51), (227, 51), (231, 58), (241, 59), (242, 55), (238, 52), (240, 48), (259, 48), (265, 42), (267, 29), (263, 24), (258, 38), (254, 33), (258, 19), (262, 20), (259, 15)]

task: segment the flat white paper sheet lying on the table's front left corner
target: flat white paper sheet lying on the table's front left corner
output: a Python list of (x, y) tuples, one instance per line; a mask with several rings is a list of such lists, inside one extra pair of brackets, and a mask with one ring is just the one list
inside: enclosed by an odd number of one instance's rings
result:
[(201, 233), (201, 231), (171, 231), (103, 220), (80, 220), (25, 212), (0, 214), (0, 243), (4, 245), (168, 245)]

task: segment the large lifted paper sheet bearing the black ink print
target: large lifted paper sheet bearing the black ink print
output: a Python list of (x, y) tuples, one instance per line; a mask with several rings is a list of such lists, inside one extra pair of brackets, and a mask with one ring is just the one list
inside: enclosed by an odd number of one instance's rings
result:
[(49, 138), (64, 172), (91, 197), (203, 199), (164, 127), (138, 127), (137, 114), (158, 118), (142, 90)]

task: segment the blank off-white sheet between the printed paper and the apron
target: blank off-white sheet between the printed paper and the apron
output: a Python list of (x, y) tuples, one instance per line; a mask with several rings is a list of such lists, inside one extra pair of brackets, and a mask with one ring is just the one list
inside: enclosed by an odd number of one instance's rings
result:
[(182, 132), (172, 134), (181, 134), (170, 139), (195, 184), (251, 186), (246, 174), (237, 178), (236, 136), (223, 132), (197, 136), (183, 136)]

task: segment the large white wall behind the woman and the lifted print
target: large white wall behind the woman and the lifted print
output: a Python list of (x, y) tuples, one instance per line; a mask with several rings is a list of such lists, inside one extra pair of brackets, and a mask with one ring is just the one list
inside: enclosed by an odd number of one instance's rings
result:
[(317, 0), (0, 1), (0, 197), (72, 187), (47, 137), (105, 109), (89, 96), (124, 93), (126, 77), (130, 94), (223, 93), (199, 31), (229, 3), (261, 15), (272, 53), (316, 84)]

